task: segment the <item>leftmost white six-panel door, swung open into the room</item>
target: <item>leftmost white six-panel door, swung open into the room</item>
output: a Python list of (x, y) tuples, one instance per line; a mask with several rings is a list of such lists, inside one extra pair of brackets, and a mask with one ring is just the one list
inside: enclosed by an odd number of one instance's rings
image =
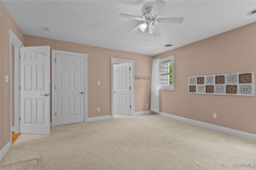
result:
[(20, 48), (20, 132), (50, 134), (50, 46)]

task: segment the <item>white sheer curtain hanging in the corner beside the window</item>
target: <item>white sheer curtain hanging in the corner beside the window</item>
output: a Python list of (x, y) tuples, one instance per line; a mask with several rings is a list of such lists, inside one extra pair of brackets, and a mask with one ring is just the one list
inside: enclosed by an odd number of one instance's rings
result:
[(159, 58), (152, 60), (150, 111), (159, 112)]

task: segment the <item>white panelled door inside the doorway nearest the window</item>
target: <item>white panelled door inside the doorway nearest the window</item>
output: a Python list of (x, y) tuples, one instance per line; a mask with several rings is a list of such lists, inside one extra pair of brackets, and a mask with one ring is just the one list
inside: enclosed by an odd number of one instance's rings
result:
[(130, 115), (130, 63), (114, 65), (114, 114)]

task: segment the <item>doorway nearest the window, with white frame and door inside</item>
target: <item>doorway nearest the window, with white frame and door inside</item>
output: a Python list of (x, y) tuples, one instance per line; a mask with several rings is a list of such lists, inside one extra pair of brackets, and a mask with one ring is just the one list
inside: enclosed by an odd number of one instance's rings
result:
[(111, 58), (111, 117), (134, 115), (134, 60)]

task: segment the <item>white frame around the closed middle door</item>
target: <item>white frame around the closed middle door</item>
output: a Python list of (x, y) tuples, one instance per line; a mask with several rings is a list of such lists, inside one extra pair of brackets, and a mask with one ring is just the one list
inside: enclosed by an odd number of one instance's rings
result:
[(56, 86), (56, 54), (64, 54), (64, 55), (76, 55), (79, 57), (84, 57), (84, 122), (88, 120), (88, 67), (87, 67), (87, 58), (88, 55), (84, 53), (75, 53), (70, 51), (61, 51), (52, 49), (52, 127), (56, 126), (55, 123), (55, 111), (56, 111), (56, 99), (55, 99), (55, 86)]

